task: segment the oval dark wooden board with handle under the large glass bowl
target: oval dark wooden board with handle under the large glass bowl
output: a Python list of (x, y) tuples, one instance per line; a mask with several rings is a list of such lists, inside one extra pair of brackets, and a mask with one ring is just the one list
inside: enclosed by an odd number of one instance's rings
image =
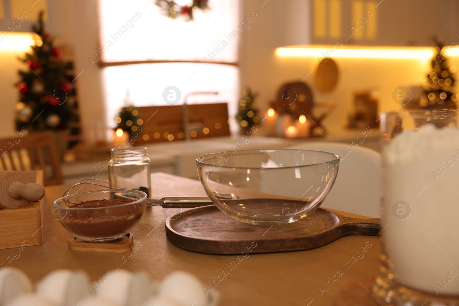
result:
[[(345, 216), (349, 215), (349, 216)], [(297, 222), (262, 226), (243, 223), (225, 215), (217, 206), (178, 212), (166, 220), (166, 236), (174, 245), (207, 254), (241, 254), (309, 250), (350, 235), (376, 236), (379, 218), (355, 218), (345, 212), (318, 208)]]

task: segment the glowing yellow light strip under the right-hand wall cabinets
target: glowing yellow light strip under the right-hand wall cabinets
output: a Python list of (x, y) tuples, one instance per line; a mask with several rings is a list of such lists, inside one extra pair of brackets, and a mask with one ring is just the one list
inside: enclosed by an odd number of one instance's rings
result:
[[(448, 56), (459, 55), (459, 48), (450, 48)], [(392, 58), (428, 60), (434, 56), (433, 48), (405, 47), (405, 48), (346, 48), (338, 46), (308, 46), (308, 47), (282, 47), (276, 49), (280, 57), (351, 57), (351, 58)]]

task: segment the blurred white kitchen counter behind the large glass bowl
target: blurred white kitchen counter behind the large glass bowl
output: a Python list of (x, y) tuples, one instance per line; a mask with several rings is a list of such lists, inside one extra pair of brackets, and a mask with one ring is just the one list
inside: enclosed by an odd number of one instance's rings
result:
[[(148, 144), (149, 157), (152, 172), (167, 172), (187, 178), (197, 179), (196, 158), (198, 156), (227, 150), (260, 150), (260, 149), (283, 149), (302, 142), (337, 141), (352, 143), (364, 130), (341, 129), (327, 131), (328, 136), (311, 137), (305, 139), (287, 139), (255, 136), (219, 136), (204, 139), (192, 139), (181, 141), (167, 141)], [(373, 128), (365, 137), (363, 144), (378, 150), (379, 129)], [(108, 156), (107, 156), (108, 157)], [(103, 167), (105, 160), (101, 161), (74, 161), (62, 163), (62, 172), (65, 182), (75, 182), (82, 178), (90, 178), (90, 173), (100, 172), (98, 178), (108, 179), (108, 169)], [(106, 164), (106, 162), (105, 162)], [(99, 169), (99, 170), (96, 170)]]

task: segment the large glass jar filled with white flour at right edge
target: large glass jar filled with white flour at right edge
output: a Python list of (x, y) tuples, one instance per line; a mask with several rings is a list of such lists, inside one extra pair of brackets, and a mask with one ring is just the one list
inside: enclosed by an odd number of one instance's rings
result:
[(382, 305), (459, 305), (459, 129), (456, 110), (381, 117)]

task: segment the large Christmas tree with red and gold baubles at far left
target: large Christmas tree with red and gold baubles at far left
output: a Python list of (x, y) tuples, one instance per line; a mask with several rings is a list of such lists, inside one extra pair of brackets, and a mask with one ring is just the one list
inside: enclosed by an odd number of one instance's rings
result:
[(43, 28), (43, 12), (39, 25), (33, 28), (38, 34), (32, 53), (21, 59), (27, 70), (19, 71), (17, 83), (20, 102), (17, 104), (16, 128), (26, 127), (33, 131), (66, 129), (78, 117), (72, 111), (71, 98), (75, 95), (73, 76), (68, 73), (72, 62), (61, 59), (62, 50), (54, 47), (53, 39)]

